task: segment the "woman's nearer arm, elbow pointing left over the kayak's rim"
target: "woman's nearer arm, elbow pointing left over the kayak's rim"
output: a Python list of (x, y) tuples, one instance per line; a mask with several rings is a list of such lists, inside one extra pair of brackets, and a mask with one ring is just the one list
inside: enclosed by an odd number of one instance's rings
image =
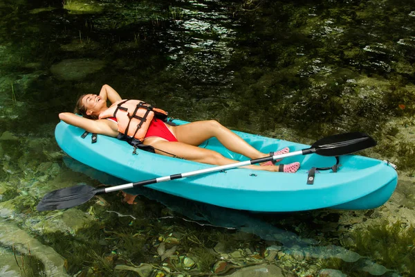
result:
[(64, 122), (80, 127), (85, 131), (96, 134), (104, 134), (106, 136), (118, 136), (118, 125), (107, 119), (92, 120), (77, 116), (70, 112), (64, 112), (59, 114), (59, 118)]

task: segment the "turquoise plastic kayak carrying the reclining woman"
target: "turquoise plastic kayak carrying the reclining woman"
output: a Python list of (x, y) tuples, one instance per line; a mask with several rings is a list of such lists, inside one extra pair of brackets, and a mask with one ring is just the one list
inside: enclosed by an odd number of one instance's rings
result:
[[(173, 122), (178, 125), (187, 123), (183, 120)], [(261, 152), (285, 147), (290, 148), (291, 152), (309, 148), (309, 145), (281, 139), (233, 132)], [(133, 147), (124, 141), (99, 135), (97, 142), (91, 143), (91, 134), (84, 138), (82, 134), (84, 129), (64, 122), (58, 123), (55, 129), (56, 141), (66, 154), (87, 166), (129, 182), (213, 167), (142, 150), (136, 150), (136, 154), (133, 154)], [(209, 139), (199, 147), (220, 152), (230, 159), (249, 160), (241, 154), (227, 150), (217, 139)], [(148, 187), (226, 208), (257, 212), (293, 212), (319, 208), (376, 208), (387, 202), (398, 182), (396, 170), (387, 161), (343, 155), (340, 157), (341, 166), (337, 172), (317, 170), (314, 184), (310, 185), (307, 184), (308, 171), (311, 168), (331, 167), (336, 162), (335, 158), (308, 154), (288, 157), (282, 162), (294, 161), (301, 163), (301, 168), (296, 173), (233, 168), (151, 184)]]

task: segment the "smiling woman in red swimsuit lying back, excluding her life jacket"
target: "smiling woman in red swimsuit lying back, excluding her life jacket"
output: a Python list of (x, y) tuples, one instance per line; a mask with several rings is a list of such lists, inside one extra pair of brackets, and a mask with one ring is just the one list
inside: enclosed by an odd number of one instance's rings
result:
[[(98, 116), (108, 109), (107, 100), (112, 104), (120, 101), (121, 97), (112, 87), (104, 84), (100, 95), (86, 94), (77, 101), (75, 113), (82, 114), (84, 117), (64, 112), (59, 114), (59, 118), (68, 124), (75, 125), (91, 133), (117, 137), (118, 123), (114, 120), (116, 118), (98, 119)], [(250, 159), (269, 156), (269, 154), (264, 154), (253, 148), (216, 120), (196, 121), (178, 126), (166, 125), (162, 120), (152, 120), (142, 143), (151, 145), (157, 154), (181, 157), (199, 163), (209, 163), (216, 166), (237, 163), (238, 161), (223, 157), (218, 152), (197, 147), (203, 141), (212, 137), (216, 137), (228, 150), (243, 154), (243, 156)], [(287, 152), (289, 152), (289, 149), (284, 148), (274, 154), (284, 154)], [(245, 166), (244, 168), (279, 171), (279, 166), (274, 166), (272, 162), (263, 163), (261, 166)], [(298, 162), (290, 163), (284, 165), (284, 172), (294, 173), (297, 172), (298, 168)]]

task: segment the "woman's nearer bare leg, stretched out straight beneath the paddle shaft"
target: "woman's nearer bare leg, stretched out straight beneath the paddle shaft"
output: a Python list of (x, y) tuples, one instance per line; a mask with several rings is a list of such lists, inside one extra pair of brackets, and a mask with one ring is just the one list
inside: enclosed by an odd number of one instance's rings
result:
[[(199, 163), (208, 163), (215, 166), (223, 166), (230, 163), (237, 163), (232, 159), (223, 157), (218, 152), (208, 150), (205, 148), (199, 148), (194, 145), (181, 142), (170, 142), (161, 138), (148, 138), (143, 142), (144, 144), (151, 145), (155, 148), (157, 154), (163, 154), (166, 156), (172, 156), (183, 158), (189, 161), (197, 161)], [(162, 150), (162, 151), (160, 151)], [(168, 154), (169, 153), (169, 154)], [(277, 166), (244, 166), (243, 168), (250, 168), (253, 170), (266, 170), (278, 172)]]

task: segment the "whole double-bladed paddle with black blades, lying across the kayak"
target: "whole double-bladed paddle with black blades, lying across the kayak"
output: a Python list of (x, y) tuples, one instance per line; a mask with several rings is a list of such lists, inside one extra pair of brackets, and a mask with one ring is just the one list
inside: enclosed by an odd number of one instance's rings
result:
[(93, 188), (91, 186), (73, 186), (70, 188), (62, 188), (54, 190), (46, 194), (42, 201), (37, 204), (37, 211), (51, 211), (62, 208), (72, 208), (80, 204), (88, 202), (89, 199), (95, 195), (101, 195), (104, 193), (112, 193), (113, 191), (126, 190), (128, 188), (137, 188), (139, 186), (147, 186), (150, 184), (156, 184), (163, 181), (170, 181), (175, 179), (181, 179), (185, 177), (191, 177), (195, 175), (201, 175), (210, 172), (216, 172), (221, 170), (227, 170), (230, 168), (239, 168), (241, 166), (250, 166), (255, 163), (264, 163), (266, 161), (275, 161), (277, 159), (283, 159), (287, 157), (293, 157), (306, 154), (319, 154), (321, 156), (335, 157), (344, 154), (351, 154), (358, 152), (366, 148), (371, 148), (376, 145), (376, 141), (360, 132), (336, 134), (334, 136), (327, 136), (320, 139), (311, 145), (311, 148), (303, 150), (280, 154), (261, 159), (252, 159), (249, 161), (241, 161), (239, 163), (231, 163), (225, 166), (216, 166), (214, 168), (206, 168), (203, 170), (195, 170), (191, 172), (185, 172), (175, 175), (169, 175), (165, 177), (159, 177), (154, 179), (148, 179), (145, 181), (138, 181), (136, 183), (129, 183), (120, 186), (112, 186), (109, 188)]

